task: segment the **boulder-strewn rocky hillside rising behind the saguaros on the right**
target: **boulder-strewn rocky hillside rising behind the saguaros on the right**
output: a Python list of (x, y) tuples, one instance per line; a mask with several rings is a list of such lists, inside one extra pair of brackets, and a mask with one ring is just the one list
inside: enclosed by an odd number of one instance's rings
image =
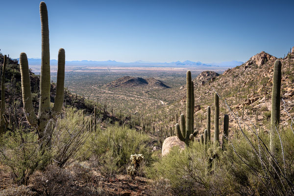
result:
[[(283, 102), (281, 102), (281, 124), (289, 126), (291, 123), (290, 118), (284, 109), (292, 117), (294, 116), (294, 49), (285, 58), (277, 58), (262, 51), (252, 56), (243, 65), (228, 69), (219, 76), (209, 72), (199, 74), (194, 79), (196, 129), (200, 133), (204, 131), (206, 126), (206, 108), (211, 106), (213, 115), (213, 94), (217, 92), (222, 99), (220, 99), (221, 121), (224, 114), (229, 114), (228, 108), (225, 107), (225, 100), (232, 111), (240, 118), (244, 115), (244, 123), (251, 124), (252, 122), (261, 130), (266, 131), (267, 125), (270, 123), (273, 65), (277, 59), (282, 62), (281, 93), (285, 101), (285, 107)], [(184, 96), (180, 101), (181, 111), (183, 112), (185, 111), (186, 88), (181, 87), (181, 91)], [(213, 132), (213, 122), (211, 125)], [(220, 127), (222, 129), (221, 125)], [(232, 136), (234, 135), (233, 130), (238, 127), (232, 115), (230, 115), (229, 127)]]

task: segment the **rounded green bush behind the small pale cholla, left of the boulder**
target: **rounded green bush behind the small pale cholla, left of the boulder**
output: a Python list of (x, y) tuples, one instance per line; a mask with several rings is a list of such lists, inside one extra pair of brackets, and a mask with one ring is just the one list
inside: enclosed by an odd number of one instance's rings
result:
[(140, 153), (147, 161), (150, 160), (151, 152), (147, 147), (149, 140), (147, 135), (136, 130), (111, 126), (93, 132), (80, 153), (84, 159), (95, 156), (97, 163), (100, 167), (106, 167), (106, 171), (125, 172), (130, 154)]

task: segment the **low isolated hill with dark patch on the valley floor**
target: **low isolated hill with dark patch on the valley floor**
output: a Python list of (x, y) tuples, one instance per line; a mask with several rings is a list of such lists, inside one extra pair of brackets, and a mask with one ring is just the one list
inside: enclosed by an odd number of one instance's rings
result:
[(130, 76), (121, 77), (113, 82), (106, 84), (105, 87), (108, 87), (108, 88), (144, 87), (148, 89), (170, 88), (169, 86), (165, 85), (162, 81), (157, 80), (153, 77), (142, 78), (142, 77), (130, 77)]

